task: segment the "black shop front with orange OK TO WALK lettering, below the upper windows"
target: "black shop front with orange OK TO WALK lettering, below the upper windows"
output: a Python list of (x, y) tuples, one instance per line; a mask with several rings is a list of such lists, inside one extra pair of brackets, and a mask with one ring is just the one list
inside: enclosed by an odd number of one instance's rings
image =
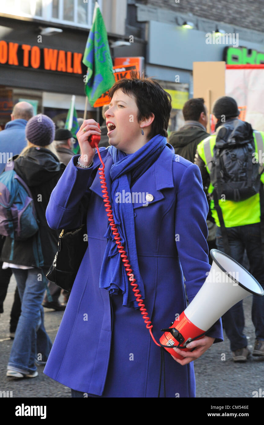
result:
[[(85, 108), (82, 56), (87, 33), (64, 29), (62, 34), (36, 34), (36, 24), (0, 18), (0, 126), (10, 121), (14, 105), (26, 100), (35, 113), (50, 116), (57, 127), (64, 126), (71, 95), (83, 117)], [(11, 27), (11, 28), (10, 28)], [(6, 28), (11, 31), (6, 31)], [(88, 105), (87, 119), (96, 118)]]

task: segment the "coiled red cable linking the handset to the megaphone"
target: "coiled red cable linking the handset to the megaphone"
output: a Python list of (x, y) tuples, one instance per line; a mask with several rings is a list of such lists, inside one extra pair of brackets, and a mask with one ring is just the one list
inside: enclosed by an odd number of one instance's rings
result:
[[(107, 212), (108, 221), (110, 223), (111, 231), (113, 232), (114, 239), (115, 239), (116, 244), (117, 244), (117, 248), (120, 252), (120, 255), (121, 255), (121, 258), (122, 258), (122, 261), (123, 261), (123, 265), (125, 267), (125, 271), (127, 272), (127, 275), (129, 277), (129, 280), (130, 280), (130, 284), (131, 284), (131, 286), (133, 286), (132, 290), (133, 290), (134, 295), (136, 297), (136, 301), (139, 305), (139, 309), (141, 311), (143, 320), (146, 323), (146, 328), (149, 330), (150, 336), (153, 339), (154, 343), (157, 346), (161, 347), (161, 345), (159, 343), (157, 343), (157, 341), (155, 340), (155, 338), (152, 334), (151, 328), (153, 328), (153, 325), (151, 324), (151, 320), (148, 317), (148, 312), (147, 312), (147, 309), (145, 308), (145, 304), (143, 303), (143, 300), (141, 299), (142, 295), (140, 294), (140, 291), (138, 289), (138, 284), (136, 283), (136, 279), (134, 278), (134, 275), (132, 273), (131, 265), (129, 264), (129, 261), (128, 261), (128, 256), (126, 255), (124, 246), (122, 246), (122, 244), (120, 242), (121, 238), (119, 236), (119, 232), (118, 232), (118, 230), (116, 228), (116, 224), (114, 222), (113, 211), (111, 209), (111, 203), (109, 201), (108, 190), (107, 190), (106, 181), (105, 181), (105, 172), (104, 172), (105, 164), (102, 161), (102, 158), (101, 158), (101, 155), (100, 155), (100, 152), (99, 152), (99, 148), (98, 148), (98, 144), (94, 143), (94, 145), (97, 149), (97, 153), (98, 153), (99, 159), (100, 159), (101, 164), (102, 164), (102, 167), (99, 167), (99, 178), (101, 179), (101, 187), (102, 187), (102, 193), (103, 193), (103, 198), (104, 198), (104, 203), (105, 203), (105, 211)], [(133, 276), (133, 278), (132, 278), (132, 276)]]

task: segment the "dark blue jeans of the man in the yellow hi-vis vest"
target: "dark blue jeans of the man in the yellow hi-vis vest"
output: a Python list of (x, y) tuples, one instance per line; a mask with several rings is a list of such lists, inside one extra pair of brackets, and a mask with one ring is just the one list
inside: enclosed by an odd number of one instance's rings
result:
[[(264, 288), (264, 263), (261, 249), (260, 223), (247, 224), (245, 226), (227, 227), (227, 238), (230, 246), (231, 257), (239, 264), (243, 263), (244, 250), (250, 264), (250, 273)], [(221, 229), (216, 230), (216, 246), (224, 252)], [(253, 295), (252, 321), (255, 327), (255, 337), (264, 341), (264, 296)], [(230, 340), (231, 351), (247, 346), (247, 338), (243, 334), (244, 312), (242, 301), (239, 301), (222, 317), (223, 326)]]

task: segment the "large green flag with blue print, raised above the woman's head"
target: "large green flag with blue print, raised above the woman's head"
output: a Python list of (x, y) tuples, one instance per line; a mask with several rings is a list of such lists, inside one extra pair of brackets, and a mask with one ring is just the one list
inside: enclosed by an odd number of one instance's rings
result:
[(82, 62), (87, 66), (85, 94), (90, 105), (94, 106), (96, 100), (115, 82), (107, 31), (97, 2)]

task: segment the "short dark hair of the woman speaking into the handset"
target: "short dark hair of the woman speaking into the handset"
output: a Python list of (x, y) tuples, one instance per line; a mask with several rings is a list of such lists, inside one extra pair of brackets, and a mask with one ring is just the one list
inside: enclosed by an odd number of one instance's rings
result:
[(131, 72), (131, 78), (116, 81), (110, 89), (108, 96), (112, 99), (114, 92), (121, 89), (123, 93), (133, 95), (136, 98), (136, 106), (139, 110), (137, 120), (148, 119), (151, 113), (155, 118), (151, 124), (150, 139), (157, 134), (167, 137), (171, 111), (171, 96), (159, 83), (151, 78), (146, 78), (144, 72), (140, 76), (138, 71)]

